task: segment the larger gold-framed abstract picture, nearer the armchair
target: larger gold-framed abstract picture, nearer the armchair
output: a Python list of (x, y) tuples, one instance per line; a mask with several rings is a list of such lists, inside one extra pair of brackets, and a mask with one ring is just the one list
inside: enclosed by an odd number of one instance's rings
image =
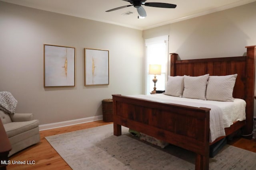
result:
[(44, 87), (75, 86), (74, 47), (44, 44)]

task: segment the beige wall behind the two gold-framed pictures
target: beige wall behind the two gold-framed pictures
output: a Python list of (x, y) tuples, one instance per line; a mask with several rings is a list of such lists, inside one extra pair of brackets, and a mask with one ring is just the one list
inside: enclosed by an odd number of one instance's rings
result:
[[(44, 88), (44, 44), (76, 48), (76, 87)], [(109, 50), (110, 84), (84, 86), (84, 48)], [(111, 94), (142, 94), (142, 31), (0, 1), (0, 91), (40, 124), (102, 114)]]

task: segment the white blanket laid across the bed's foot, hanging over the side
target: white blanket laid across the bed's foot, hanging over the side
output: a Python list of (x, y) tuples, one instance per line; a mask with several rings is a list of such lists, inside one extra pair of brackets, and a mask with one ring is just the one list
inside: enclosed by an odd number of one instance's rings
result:
[[(130, 97), (141, 98), (146, 100), (152, 100), (155, 102), (163, 102), (163, 103), (171, 103), (171, 104), (179, 104), (185, 106), (192, 107), (206, 107), (210, 108), (210, 142), (214, 141), (218, 137), (225, 136), (224, 123), (223, 123), (223, 115), (222, 109), (220, 107), (212, 105), (212, 104), (202, 104), (194, 102), (195, 100), (187, 101), (188, 98), (178, 98), (179, 100), (167, 100), (165, 98), (161, 98), (157, 94), (154, 95), (132, 95)], [(185, 100), (184, 100), (185, 99)], [(203, 101), (203, 100), (202, 100)]]

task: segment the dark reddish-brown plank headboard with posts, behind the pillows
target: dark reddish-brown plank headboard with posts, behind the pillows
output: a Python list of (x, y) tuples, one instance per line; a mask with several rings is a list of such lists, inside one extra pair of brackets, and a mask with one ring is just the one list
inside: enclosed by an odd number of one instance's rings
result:
[(210, 76), (224, 76), (238, 74), (233, 97), (246, 101), (246, 127), (243, 134), (249, 135), (253, 128), (255, 47), (246, 47), (246, 56), (242, 57), (178, 60), (178, 54), (171, 53), (170, 75), (200, 76), (209, 73)]

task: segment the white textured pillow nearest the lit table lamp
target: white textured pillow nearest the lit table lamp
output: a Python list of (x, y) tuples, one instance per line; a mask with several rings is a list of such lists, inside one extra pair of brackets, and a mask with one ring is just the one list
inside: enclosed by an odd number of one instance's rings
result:
[(184, 90), (184, 76), (168, 76), (164, 94), (181, 97)]

